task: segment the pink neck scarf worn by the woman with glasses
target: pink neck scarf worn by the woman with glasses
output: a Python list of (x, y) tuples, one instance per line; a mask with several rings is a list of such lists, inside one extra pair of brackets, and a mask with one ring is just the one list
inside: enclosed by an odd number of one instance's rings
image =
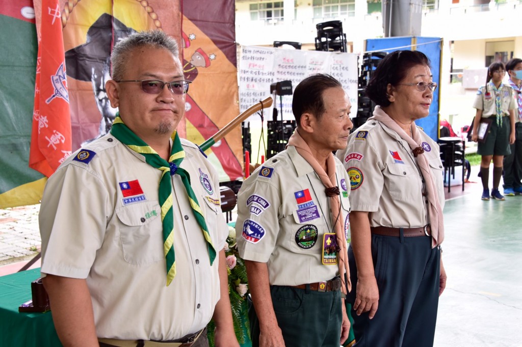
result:
[(420, 137), (419, 132), (417, 131), (417, 126), (415, 125), (415, 122), (411, 122), (410, 129), (411, 134), (413, 136), (412, 139), (406, 134), (404, 130), (402, 130), (402, 128), (397, 124), (395, 120), (390, 118), (390, 116), (388, 116), (385, 113), (381, 106), (375, 106), (375, 110), (373, 111), (373, 117), (369, 119), (378, 120), (388, 128), (395, 131), (402, 140), (408, 142), (413, 156), (417, 157), (417, 164), (421, 169), (422, 177), (424, 178), (424, 184), (426, 190), (428, 191), (428, 215), (430, 216), (432, 247), (441, 244), (444, 240), (444, 218), (442, 215), (442, 207), (441, 203), (438, 201), (435, 179), (432, 177), (432, 172), (430, 169), (430, 164), (428, 163), (428, 159), (424, 155), (424, 149), (421, 146), (422, 139)]

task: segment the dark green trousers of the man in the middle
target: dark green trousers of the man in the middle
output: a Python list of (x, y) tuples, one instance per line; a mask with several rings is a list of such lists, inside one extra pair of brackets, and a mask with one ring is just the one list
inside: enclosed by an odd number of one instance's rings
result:
[[(286, 347), (339, 347), (341, 292), (317, 292), (270, 286), (277, 324)], [(248, 308), (252, 347), (259, 347), (259, 320), (254, 305)], [(262, 346), (261, 346), (262, 347)]]

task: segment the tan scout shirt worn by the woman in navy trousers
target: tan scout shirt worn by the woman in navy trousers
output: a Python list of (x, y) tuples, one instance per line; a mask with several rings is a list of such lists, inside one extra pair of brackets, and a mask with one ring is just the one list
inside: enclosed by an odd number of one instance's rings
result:
[[(444, 207), (443, 166), (438, 145), (418, 129)], [(351, 179), (350, 205), (369, 212), (370, 226), (417, 228), (429, 223), (428, 199), (417, 159), (408, 143), (379, 121), (368, 120), (338, 151)], [(424, 189), (425, 191), (425, 189)]]

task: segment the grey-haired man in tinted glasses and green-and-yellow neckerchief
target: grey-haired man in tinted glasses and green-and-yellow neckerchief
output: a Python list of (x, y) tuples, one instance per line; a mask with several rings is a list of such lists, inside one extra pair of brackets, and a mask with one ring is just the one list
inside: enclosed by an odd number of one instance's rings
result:
[[(46, 184), (42, 277), (64, 346), (238, 346), (216, 170), (175, 131), (188, 82), (162, 31), (115, 45), (109, 134)], [(191, 184), (192, 183), (192, 184)]]

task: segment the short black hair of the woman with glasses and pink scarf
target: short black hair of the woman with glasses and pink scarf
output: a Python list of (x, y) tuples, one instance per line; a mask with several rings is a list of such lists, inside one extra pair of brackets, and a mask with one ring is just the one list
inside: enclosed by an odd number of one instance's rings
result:
[(366, 96), (374, 103), (387, 107), (391, 103), (388, 100), (388, 84), (397, 85), (404, 80), (408, 70), (414, 66), (430, 66), (430, 59), (419, 51), (395, 51), (385, 56), (366, 86)]

